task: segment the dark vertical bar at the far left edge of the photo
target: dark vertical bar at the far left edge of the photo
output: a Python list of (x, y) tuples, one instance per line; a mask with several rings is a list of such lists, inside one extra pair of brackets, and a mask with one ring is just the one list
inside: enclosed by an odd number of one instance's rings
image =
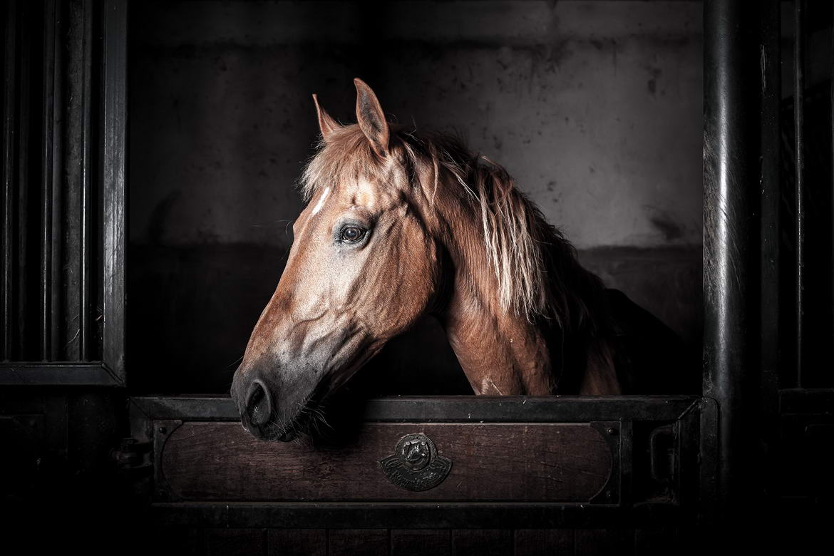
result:
[(16, 123), (16, 92), (18, 75), (17, 53), (17, 2), (10, 0), (6, 3), (6, 44), (3, 60), (3, 276), (0, 277), (0, 310), (3, 311), (3, 330), (0, 331), (2, 346), (0, 359), (8, 361), (12, 358), (13, 336), (13, 238), (14, 238), (14, 164), (15, 143), (17, 134)]

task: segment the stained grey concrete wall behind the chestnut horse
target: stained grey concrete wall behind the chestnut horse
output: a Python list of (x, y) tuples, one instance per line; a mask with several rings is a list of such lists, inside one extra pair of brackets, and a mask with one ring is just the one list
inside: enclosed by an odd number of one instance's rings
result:
[(302, 208), (310, 93), (353, 121), (355, 76), (399, 122), (503, 163), (590, 268), (697, 341), (701, 3), (136, 3), (131, 18), (131, 361), (169, 362), (148, 384), (224, 388), (220, 359), (234, 370)]

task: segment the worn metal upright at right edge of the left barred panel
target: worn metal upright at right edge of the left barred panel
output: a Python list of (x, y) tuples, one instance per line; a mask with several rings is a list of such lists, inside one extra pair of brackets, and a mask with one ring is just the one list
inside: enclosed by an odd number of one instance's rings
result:
[(124, 284), (128, 122), (128, 3), (104, 3), (103, 360), (124, 379)]

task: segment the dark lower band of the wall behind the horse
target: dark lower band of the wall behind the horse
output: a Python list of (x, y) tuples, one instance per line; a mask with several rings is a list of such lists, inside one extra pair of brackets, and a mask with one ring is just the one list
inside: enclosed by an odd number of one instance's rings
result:
[[(143, 392), (227, 393), (286, 249), (256, 245), (133, 245), (128, 283), (131, 386)], [(600, 248), (580, 261), (701, 345), (701, 250)], [(425, 318), (360, 373), (379, 394), (471, 393), (445, 333)]]

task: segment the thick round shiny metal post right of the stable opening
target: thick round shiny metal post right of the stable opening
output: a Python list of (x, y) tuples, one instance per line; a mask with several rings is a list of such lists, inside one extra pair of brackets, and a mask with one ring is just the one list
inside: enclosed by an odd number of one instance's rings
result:
[(704, 393), (719, 406), (719, 508), (753, 503), (759, 412), (760, 52), (749, 3), (704, 3)]

